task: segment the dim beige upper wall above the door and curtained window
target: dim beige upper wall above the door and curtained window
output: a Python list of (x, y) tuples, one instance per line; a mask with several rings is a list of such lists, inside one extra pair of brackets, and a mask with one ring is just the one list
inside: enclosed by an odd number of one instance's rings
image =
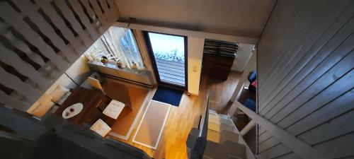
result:
[(120, 20), (208, 33), (258, 37), (275, 0), (119, 0)]

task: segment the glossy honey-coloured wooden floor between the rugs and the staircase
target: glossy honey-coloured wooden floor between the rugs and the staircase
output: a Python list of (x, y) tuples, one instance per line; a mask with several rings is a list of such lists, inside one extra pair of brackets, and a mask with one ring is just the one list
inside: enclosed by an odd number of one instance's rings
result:
[[(123, 142), (129, 143), (137, 148), (141, 148), (147, 154), (156, 159), (187, 158), (187, 147), (185, 145), (185, 141), (187, 140), (190, 129), (198, 126), (207, 91), (210, 90), (210, 109), (216, 110), (219, 113), (227, 114), (227, 112), (232, 110), (228, 101), (232, 96), (240, 76), (241, 73), (236, 73), (234, 71), (230, 73), (227, 81), (220, 81), (207, 76), (202, 76), (200, 83), (200, 94), (198, 96), (188, 96), (185, 92), (179, 107), (171, 107), (164, 132), (161, 136), (161, 140), (156, 151), (151, 148), (141, 146), (137, 143), (132, 143), (132, 136), (134, 136), (137, 126), (135, 126), (130, 138)], [(152, 92), (147, 95), (147, 98), (152, 99), (154, 91), (156, 91), (156, 88), (154, 88)], [(122, 141), (120, 139), (117, 140)]]

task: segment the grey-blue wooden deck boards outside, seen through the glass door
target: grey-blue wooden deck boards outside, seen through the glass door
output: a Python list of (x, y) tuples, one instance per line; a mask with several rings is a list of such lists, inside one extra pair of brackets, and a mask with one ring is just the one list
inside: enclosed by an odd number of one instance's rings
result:
[(185, 86), (185, 66), (176, 61), (156, 59), (161, 81)]

